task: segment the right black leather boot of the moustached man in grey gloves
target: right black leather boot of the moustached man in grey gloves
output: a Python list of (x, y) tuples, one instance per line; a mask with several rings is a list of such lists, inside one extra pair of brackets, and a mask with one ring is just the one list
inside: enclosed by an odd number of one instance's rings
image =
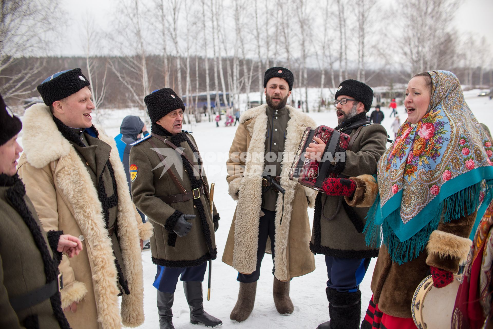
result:
[(183, 281), (183, 291), (190, 307), (190, 322), (193, 325), (202, 323), (208, 328), (217, 328), (222, 325), (222, 321), (214, 318), (204, 311), (202, 282), (200, 281)]

